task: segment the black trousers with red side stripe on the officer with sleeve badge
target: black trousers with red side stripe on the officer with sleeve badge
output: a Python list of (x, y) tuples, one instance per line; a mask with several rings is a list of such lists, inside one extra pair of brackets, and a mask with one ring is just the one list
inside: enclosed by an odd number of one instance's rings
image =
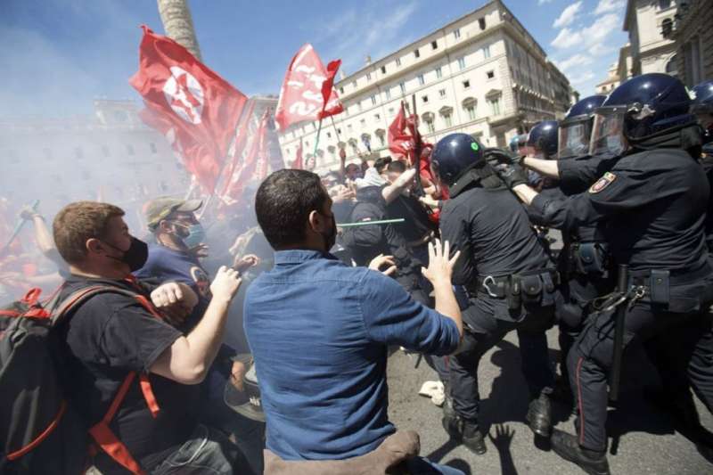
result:
[[(705, 293), (705, 289), (701, 291)], [(707, 310), (707, 304), (703, 308)], [(613, 359), (614, 326), (613, 311), (590, 315), (568, 358), (570, 384), (578, 403), (575, 425), (579, 444), (592, 450), (606, 450), (607, 446), (607, 383)], [(627, 312), (625, 328), (625, 345), (638, 339), (644, 346), (658, 348), (656, 359), (665, 364), (663, 368), (660, 364), (657, 367), (665, 384), (677, 386), (676, 381), (687, 375), (710, 410), (713, 334), (707, 311), (663, 311), (641, 301)], [(671, 375), (671, 381), (667, 381), (667, 375)], [(687, 385), (684, 388), (687, 390)]]

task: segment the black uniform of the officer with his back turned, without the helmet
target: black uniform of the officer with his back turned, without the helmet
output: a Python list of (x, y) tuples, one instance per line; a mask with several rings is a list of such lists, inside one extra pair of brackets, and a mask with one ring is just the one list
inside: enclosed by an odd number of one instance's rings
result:
[(455, 412), (477, 423), (479, 359), (507, 332), (518, 332), (530, 396), (551, 392), (545, 332), (553, 324), (557, 276), (512, 193), (502, 184), (485, 188), (471, 180), (444, 203), (440, 233), (452, 251), (462, 253), (453, 283), (470, 295), (463, 309), (463, 350), (449, 360), (451, 397)]

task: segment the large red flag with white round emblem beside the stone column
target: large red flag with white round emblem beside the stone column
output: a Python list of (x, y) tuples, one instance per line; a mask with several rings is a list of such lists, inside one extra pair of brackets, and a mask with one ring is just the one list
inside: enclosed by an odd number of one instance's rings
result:
[(185, 168), (213, 192), (247, 98), (184, 46), (142, 28), (139, 70), (129, 83), (174, 128)]

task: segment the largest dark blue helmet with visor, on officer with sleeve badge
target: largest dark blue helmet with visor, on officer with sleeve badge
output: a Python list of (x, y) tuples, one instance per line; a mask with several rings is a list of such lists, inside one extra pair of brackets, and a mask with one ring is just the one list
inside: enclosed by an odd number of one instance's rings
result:
[(589, 154), (619, 155), (646, 143), (691, 126), (691, 98), (683, 83), (662, 73), (648, 73), (628, 79), (614, 89), (594, 113)]

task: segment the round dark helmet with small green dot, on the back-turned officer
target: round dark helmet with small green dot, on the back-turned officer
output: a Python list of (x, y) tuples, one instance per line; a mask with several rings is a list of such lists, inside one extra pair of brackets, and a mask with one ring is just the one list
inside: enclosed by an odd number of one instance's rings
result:
[(436, 143), (430, 154), (433, 171), (447, 186), (471, 168), (485, 166), (483, 146), (468, 134), (446, 135)]

